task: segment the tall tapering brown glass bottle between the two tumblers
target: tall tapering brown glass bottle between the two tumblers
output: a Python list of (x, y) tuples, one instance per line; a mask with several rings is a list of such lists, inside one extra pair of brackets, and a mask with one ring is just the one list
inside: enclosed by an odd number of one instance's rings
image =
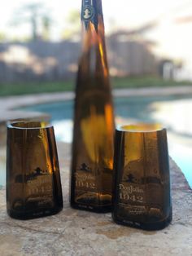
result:
[(71, 205), (111, 210), (114, 116), (101, 0), (82, 0), (83, 49), (76, 80)]

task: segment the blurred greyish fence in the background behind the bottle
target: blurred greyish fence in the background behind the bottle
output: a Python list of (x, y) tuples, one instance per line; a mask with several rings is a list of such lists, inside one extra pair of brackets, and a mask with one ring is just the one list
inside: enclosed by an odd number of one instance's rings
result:
[[(0, 83), (59, 81), (76, 73), (80, 42), (17, 42), (0, 44)], [(158, 63), (146, 42), (107, 38), (112, 76), (154, 74)]]

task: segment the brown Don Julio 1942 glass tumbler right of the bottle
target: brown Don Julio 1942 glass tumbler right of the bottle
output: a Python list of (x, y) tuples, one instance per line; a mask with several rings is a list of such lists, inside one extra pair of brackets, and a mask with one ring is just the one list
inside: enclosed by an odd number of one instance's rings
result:
[(113, 188), (116, 223), (146, 230), (172, 220), (167, 133), (159, 125), (116, 130)]

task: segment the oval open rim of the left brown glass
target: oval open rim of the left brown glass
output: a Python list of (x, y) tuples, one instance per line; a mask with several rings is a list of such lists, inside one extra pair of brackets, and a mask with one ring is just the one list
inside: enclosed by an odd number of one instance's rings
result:
[[(30, 124), (38, 123), (37, 126), (30, 126)], [(16, 126), (18, 125), (18, 126)], [(23, 125), (23, 126), (20, 126)], [(26, 126), (24, 126), (26, 125)], [(39, 129), (47, 129), (53, 128), (48, 121), (8, 121), (7, 128), (18, 129), (18, 130), (39, 130)]]

